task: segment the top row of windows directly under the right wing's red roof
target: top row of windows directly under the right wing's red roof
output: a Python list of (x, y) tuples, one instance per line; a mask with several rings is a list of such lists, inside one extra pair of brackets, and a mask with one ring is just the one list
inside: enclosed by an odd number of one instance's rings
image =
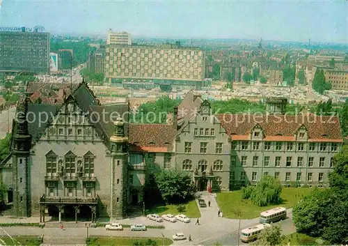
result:
[[(250, 143), (250, 144), (249, 144)], [(281, 142), (281, 141), (232, 141), (231, 143), (231, 149), (232, 150), (242, 150), (242, 151), (248, 151), (250, 148), (253, 151), (260, 151), (262, 149), (262, 143), (263, 143), (263, 150), (264, 151), (271, 151), (272, 149), (274, 151), (306, 151), (307, 143), (295, 143), (295, 142)], [(271, 147), (274, 148), (271, 148)], [(309, 151), (331, 151), (336, 152), (338, 151), (338, 144), (337, 143), (309, 143), (308, 150)]]

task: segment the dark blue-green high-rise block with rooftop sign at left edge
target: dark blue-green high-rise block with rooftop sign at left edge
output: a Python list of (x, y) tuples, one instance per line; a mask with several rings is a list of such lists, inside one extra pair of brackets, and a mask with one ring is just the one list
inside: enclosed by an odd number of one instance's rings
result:
[(49, 73), (49, 33), (0, 31), (0, 72)]

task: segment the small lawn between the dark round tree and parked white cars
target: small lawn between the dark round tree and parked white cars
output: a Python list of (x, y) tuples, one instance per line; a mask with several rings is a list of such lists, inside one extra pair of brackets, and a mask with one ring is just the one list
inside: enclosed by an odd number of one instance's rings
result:
[[(187, 217), (189, 218), (200, 217), (200, 212), (195, 200), (189, 201), (188, 203), (179, 204), (179, 205), (184, 205), (186, 207), (186, 209), (181, 213), (183, 213)], [(168, 204), (166, 206), (155, 206), (153, 208), (146, 210), (146, 214), (157, 213), (157, 215), (166, 215), (167, 213), (171, 213), (172, 215), (179, 215), (180, 213), (177, 212), (177, 206), (179, 205)]]

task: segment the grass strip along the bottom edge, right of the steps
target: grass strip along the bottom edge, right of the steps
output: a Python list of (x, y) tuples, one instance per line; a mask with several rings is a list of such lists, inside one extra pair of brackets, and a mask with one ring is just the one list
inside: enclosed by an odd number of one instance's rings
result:
[(105, 237), (105, 238), (90, 238), (87, 245), (89, 246), (97, 246), (97, 245), (113, 245), (113, 246), (132, 246), (134, 243), (143, 243), (143, 245), (147, 244), (148, 240), (155, 240), (157, 245), (171, 245), (173, 241), (168, 238), (126, 238), (126, 237)]

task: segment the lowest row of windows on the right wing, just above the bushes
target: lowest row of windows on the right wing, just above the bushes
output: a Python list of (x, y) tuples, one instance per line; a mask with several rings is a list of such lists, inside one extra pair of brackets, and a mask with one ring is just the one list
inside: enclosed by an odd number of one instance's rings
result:
[[(264, 171), (263, 175), (269, 175), (267, 171)], [(285, 180), (286, 182), (290, 182), (290, 181), (301, 181), (301, 176), (302, 174), (300, 172), (298, 172), (296, 174), (296, 180), (292, 180), (291, 178), (291, 173), (290, 172), (286, 172), (285, 173), (285, 177), (283, 180)], [(274, 178), (280, 179), (280, 172), (276, 171), (274, 173)], [(235, 181), (235, 171), (231, 172), (231, 176), (230, 176), (230, 180), (231, 181)], [(246, 180), (246, 172), (245, 171), (241, 171), (240, 173), (240, 181), (245, 181)], [(322, 182), (324, 180), (324, 173), (319, 173), (318, 174), (318, 181)], [(251, 181), (255, 182), (258, 181), (258, 172), (257, 171), (253, 171), (251, 174)], [(307, 174), (307, 181), (308, 182), (312, 182), (313, 181), (313, 173), (308, 173)]]

